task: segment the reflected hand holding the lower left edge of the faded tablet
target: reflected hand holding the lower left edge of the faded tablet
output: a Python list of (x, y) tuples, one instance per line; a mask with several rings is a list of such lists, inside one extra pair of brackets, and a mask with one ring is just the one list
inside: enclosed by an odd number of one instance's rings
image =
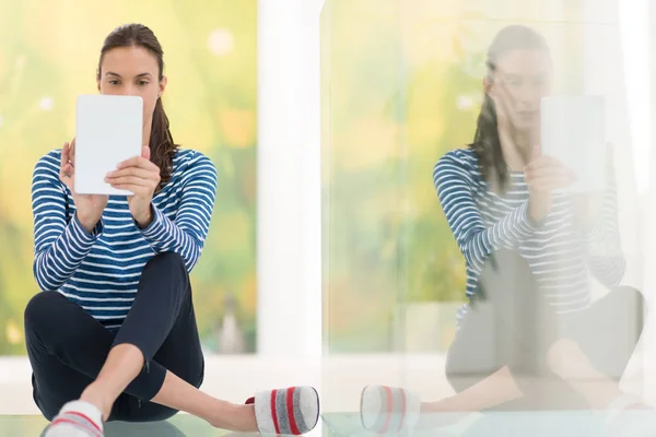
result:
[(528, 185), (528, 214), (535, 223), (541, 223), (551, 211), (552, 192), (570, 186), (576, 176), (560, 161), (540, 155), (526, 166), (524, 177)]

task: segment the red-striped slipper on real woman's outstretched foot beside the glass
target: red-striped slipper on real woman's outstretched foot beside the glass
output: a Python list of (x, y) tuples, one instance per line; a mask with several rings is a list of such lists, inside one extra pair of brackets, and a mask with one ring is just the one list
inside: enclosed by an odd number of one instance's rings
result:
[(319, 422), (319, 394), (313, 387), (262, 391), (246, 403), (255, 404), (257, 428), (262, 434), (298, 436)]

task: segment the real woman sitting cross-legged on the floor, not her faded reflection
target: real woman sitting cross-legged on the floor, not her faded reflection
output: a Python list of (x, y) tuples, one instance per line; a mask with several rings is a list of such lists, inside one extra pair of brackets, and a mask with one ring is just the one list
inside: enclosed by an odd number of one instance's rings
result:
[(130, 197), (79, 194), (74, 140), (36, 164), (34, 275), (25, 309), (34, 400), (46, 436), (102, 436), (107, 421), (151, 422), (178, 411), (236, 432), (303, 434), (318, 395), (297, 387), (244, 405), (200, 390), (204, 363), (189, 272), (207, 237), (216, 170), (179, 149), (162, 106), (163, 51), (150, 28), (116, 28), (101, 50), (102, 94), (143, 99), (143, 153), (107, 174)]

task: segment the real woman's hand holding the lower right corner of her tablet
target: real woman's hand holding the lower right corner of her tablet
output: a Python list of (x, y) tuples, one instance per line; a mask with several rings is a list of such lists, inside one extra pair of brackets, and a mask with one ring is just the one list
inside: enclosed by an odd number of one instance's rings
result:
[(148, 145), (142, 149), (141, 156), (118, 164), (105, 178), (112, 187), (133, 192), (133, 196), (128, 196), (128, 205), (141, 228), (148, 227), (153, 221), (152, 200), (160, 180), (160, 167), (150, 161)]

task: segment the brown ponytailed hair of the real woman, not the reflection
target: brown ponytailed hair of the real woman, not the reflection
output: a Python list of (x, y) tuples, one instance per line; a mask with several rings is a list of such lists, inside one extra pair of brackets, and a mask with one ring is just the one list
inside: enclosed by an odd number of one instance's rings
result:
[[(107, 37), (101, 49), (101, 58), (98, 60), (97, 79), (101, 79), (101, 68), (105, 54), (117, 47), (141, 47), (153, 55), (157, 60), (160, 68), (159, 80), (164, 78), (164, 50), (155, 34), (143, 24), (125, 24), (116, 27)], [(155, 109), (153, 111), (153, 122), (151, 127), (149, 146), (151, 149), (151, 161), (160, 167), (160, 177), (162, 179), (160, 187), (155, 191), (165, 186), (171, 180), (173, 172), (173, 157), (179, 144), (175, 144), (173, 135), (168, 129), (169, 122), (162, 99), (157, 98)]]

